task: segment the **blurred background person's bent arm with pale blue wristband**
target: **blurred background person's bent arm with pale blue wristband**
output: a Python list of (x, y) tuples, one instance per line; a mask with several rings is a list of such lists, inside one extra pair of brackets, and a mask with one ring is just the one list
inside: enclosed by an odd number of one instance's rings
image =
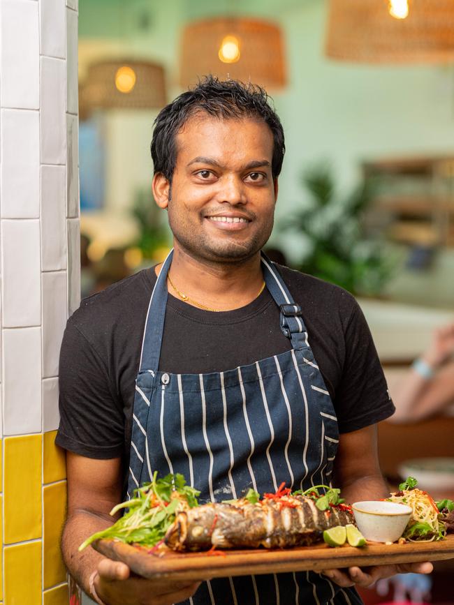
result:
[(416, 422), (454, 403), (454, 322), (436, 329), (393, 392), (396, 411), (391, 422)]

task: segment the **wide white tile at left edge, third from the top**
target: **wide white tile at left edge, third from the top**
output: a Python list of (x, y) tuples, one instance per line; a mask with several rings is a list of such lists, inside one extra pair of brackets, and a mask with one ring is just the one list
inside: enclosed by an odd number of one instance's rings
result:
[(39, 240), (39, 221), (2, 219), (3, 327), (41, 325)]

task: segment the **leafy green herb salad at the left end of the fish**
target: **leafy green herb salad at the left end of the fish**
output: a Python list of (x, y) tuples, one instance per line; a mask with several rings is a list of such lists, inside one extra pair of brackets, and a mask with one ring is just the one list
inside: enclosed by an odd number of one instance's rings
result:
[(198, 506), (199, 491), (186, 485), (183, 475), (154, 473), (153, 480), (134, 490), (133, 498), (114, 507), (111, 515), (121, 509), (128, 511), (109, 528), (96, 532), (79, 546), (82, 551), (100, 538), (115, 538), (123, 542), (152, 548), (161, 544), (177, 513)]

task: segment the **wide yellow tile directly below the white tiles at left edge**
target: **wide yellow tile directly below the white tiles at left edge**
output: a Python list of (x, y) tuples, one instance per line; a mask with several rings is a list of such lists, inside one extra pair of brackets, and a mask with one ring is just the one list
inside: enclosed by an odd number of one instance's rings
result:
[(4, 439), (5, 544), (41, 538), (41, 438)]

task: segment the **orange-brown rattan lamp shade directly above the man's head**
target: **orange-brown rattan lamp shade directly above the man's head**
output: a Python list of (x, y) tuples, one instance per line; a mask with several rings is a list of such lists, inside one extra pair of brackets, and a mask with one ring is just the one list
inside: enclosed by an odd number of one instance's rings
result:
[[(219, 59), (219, 49), (226, 36), (235, 36), (240, 58), (235, 63)], [(180, 84), (186, 88), (207, 74), (221, 80), (228, 77), (260, 84), (265, 89), (279, 89), (286, 84), (284, 43), (277, 25), (242, 17), (217, 17), (193, 22), (182, 36)]]

